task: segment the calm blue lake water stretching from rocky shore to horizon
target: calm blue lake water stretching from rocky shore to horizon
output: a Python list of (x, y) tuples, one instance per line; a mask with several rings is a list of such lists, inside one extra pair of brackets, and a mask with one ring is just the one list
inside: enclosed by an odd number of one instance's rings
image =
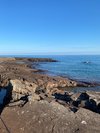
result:
[[(60, 75), (88, 82), (100, 82), (100, 55), (31, 55), (19, 57), (52, 58), (58, 62), (39, 63), (39, 68), (50, 75)], [(76, 90), (95, 90), (97, 88), (75, 88)]]

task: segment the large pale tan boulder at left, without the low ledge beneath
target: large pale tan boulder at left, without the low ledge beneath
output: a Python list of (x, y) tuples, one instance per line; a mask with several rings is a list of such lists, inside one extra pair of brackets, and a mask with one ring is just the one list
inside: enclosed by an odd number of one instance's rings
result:
[[(37, 89), (37, 85), (35, 83), (30, 83), (27, 81), (21, 81), (21, 80), (10, 80), (9, 87), (7, 93), (9, 94), (9, 97), (11, 97), (11, 101), (15, 102), (18, 100), (28, 100), (28, 96), (32, 96), (31, 99), (33, 99), (33, 95)], [(37, 98), (35, 98), (37, 99)], [(39, 99), (39, 98), (38, 98)]]

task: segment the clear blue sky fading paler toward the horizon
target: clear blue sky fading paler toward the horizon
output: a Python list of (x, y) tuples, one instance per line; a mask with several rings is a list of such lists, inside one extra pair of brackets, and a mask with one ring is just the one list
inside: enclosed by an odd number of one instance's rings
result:
[(0, 54), (100, 54), (100, 0), (0, 0)]

